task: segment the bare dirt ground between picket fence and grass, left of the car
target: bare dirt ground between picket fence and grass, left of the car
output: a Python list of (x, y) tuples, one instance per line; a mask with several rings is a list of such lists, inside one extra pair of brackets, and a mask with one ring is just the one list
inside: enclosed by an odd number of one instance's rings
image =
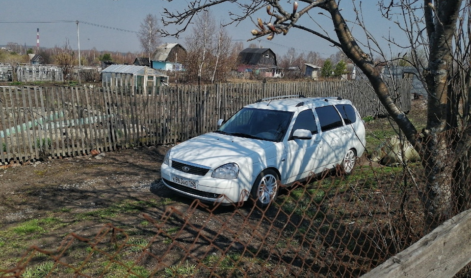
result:
[(0, 224), (61, 208), (96, 208), (119, 199), (168, 197), (160, 163), (169, 146), (141, 147), (0, 169)]

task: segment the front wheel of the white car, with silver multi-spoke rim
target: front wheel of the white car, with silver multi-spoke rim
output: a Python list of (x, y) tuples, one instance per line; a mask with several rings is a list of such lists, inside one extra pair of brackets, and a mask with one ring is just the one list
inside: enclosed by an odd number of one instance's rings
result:
[(278, 174), (274, 170), (266, 169), (255, 179), (250, 196), (258, 207), (265, 208), (276, 200), (279, 191)]

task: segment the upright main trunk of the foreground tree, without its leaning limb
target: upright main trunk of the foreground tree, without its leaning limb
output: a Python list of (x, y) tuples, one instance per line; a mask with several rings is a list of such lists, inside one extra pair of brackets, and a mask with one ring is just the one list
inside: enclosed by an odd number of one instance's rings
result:
[(453, 216), (453, 172), (458, 157), (453, 157), (452, 130), (449, 125), (450, 95), (448, 81), (452, 68), (453, 35), (461, 0), (437, 1), (433, 7), (425, 0), (424, 13), (429, 39), (429, 63), (425, 71), (428, 91), (427, 127), (423, 131), (422, 161), (427, 179), (424, 214), (425, 232)]

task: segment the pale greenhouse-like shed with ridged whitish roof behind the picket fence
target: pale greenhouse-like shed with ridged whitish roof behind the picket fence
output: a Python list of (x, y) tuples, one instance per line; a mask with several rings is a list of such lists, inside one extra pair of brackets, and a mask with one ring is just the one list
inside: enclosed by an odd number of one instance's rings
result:
[(168, 85), (168, 76), (147, 66), (111, 65), (102, 70), (102, 84), (111, 89), (131, 87), (133, 92), (147, 93), (152, 88)]

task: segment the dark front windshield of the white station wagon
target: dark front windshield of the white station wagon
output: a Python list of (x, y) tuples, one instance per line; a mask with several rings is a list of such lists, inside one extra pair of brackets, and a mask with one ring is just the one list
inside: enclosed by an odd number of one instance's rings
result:
[(293, 112), (242, 108), (215, 132), (280, 142), (286, 134)]

